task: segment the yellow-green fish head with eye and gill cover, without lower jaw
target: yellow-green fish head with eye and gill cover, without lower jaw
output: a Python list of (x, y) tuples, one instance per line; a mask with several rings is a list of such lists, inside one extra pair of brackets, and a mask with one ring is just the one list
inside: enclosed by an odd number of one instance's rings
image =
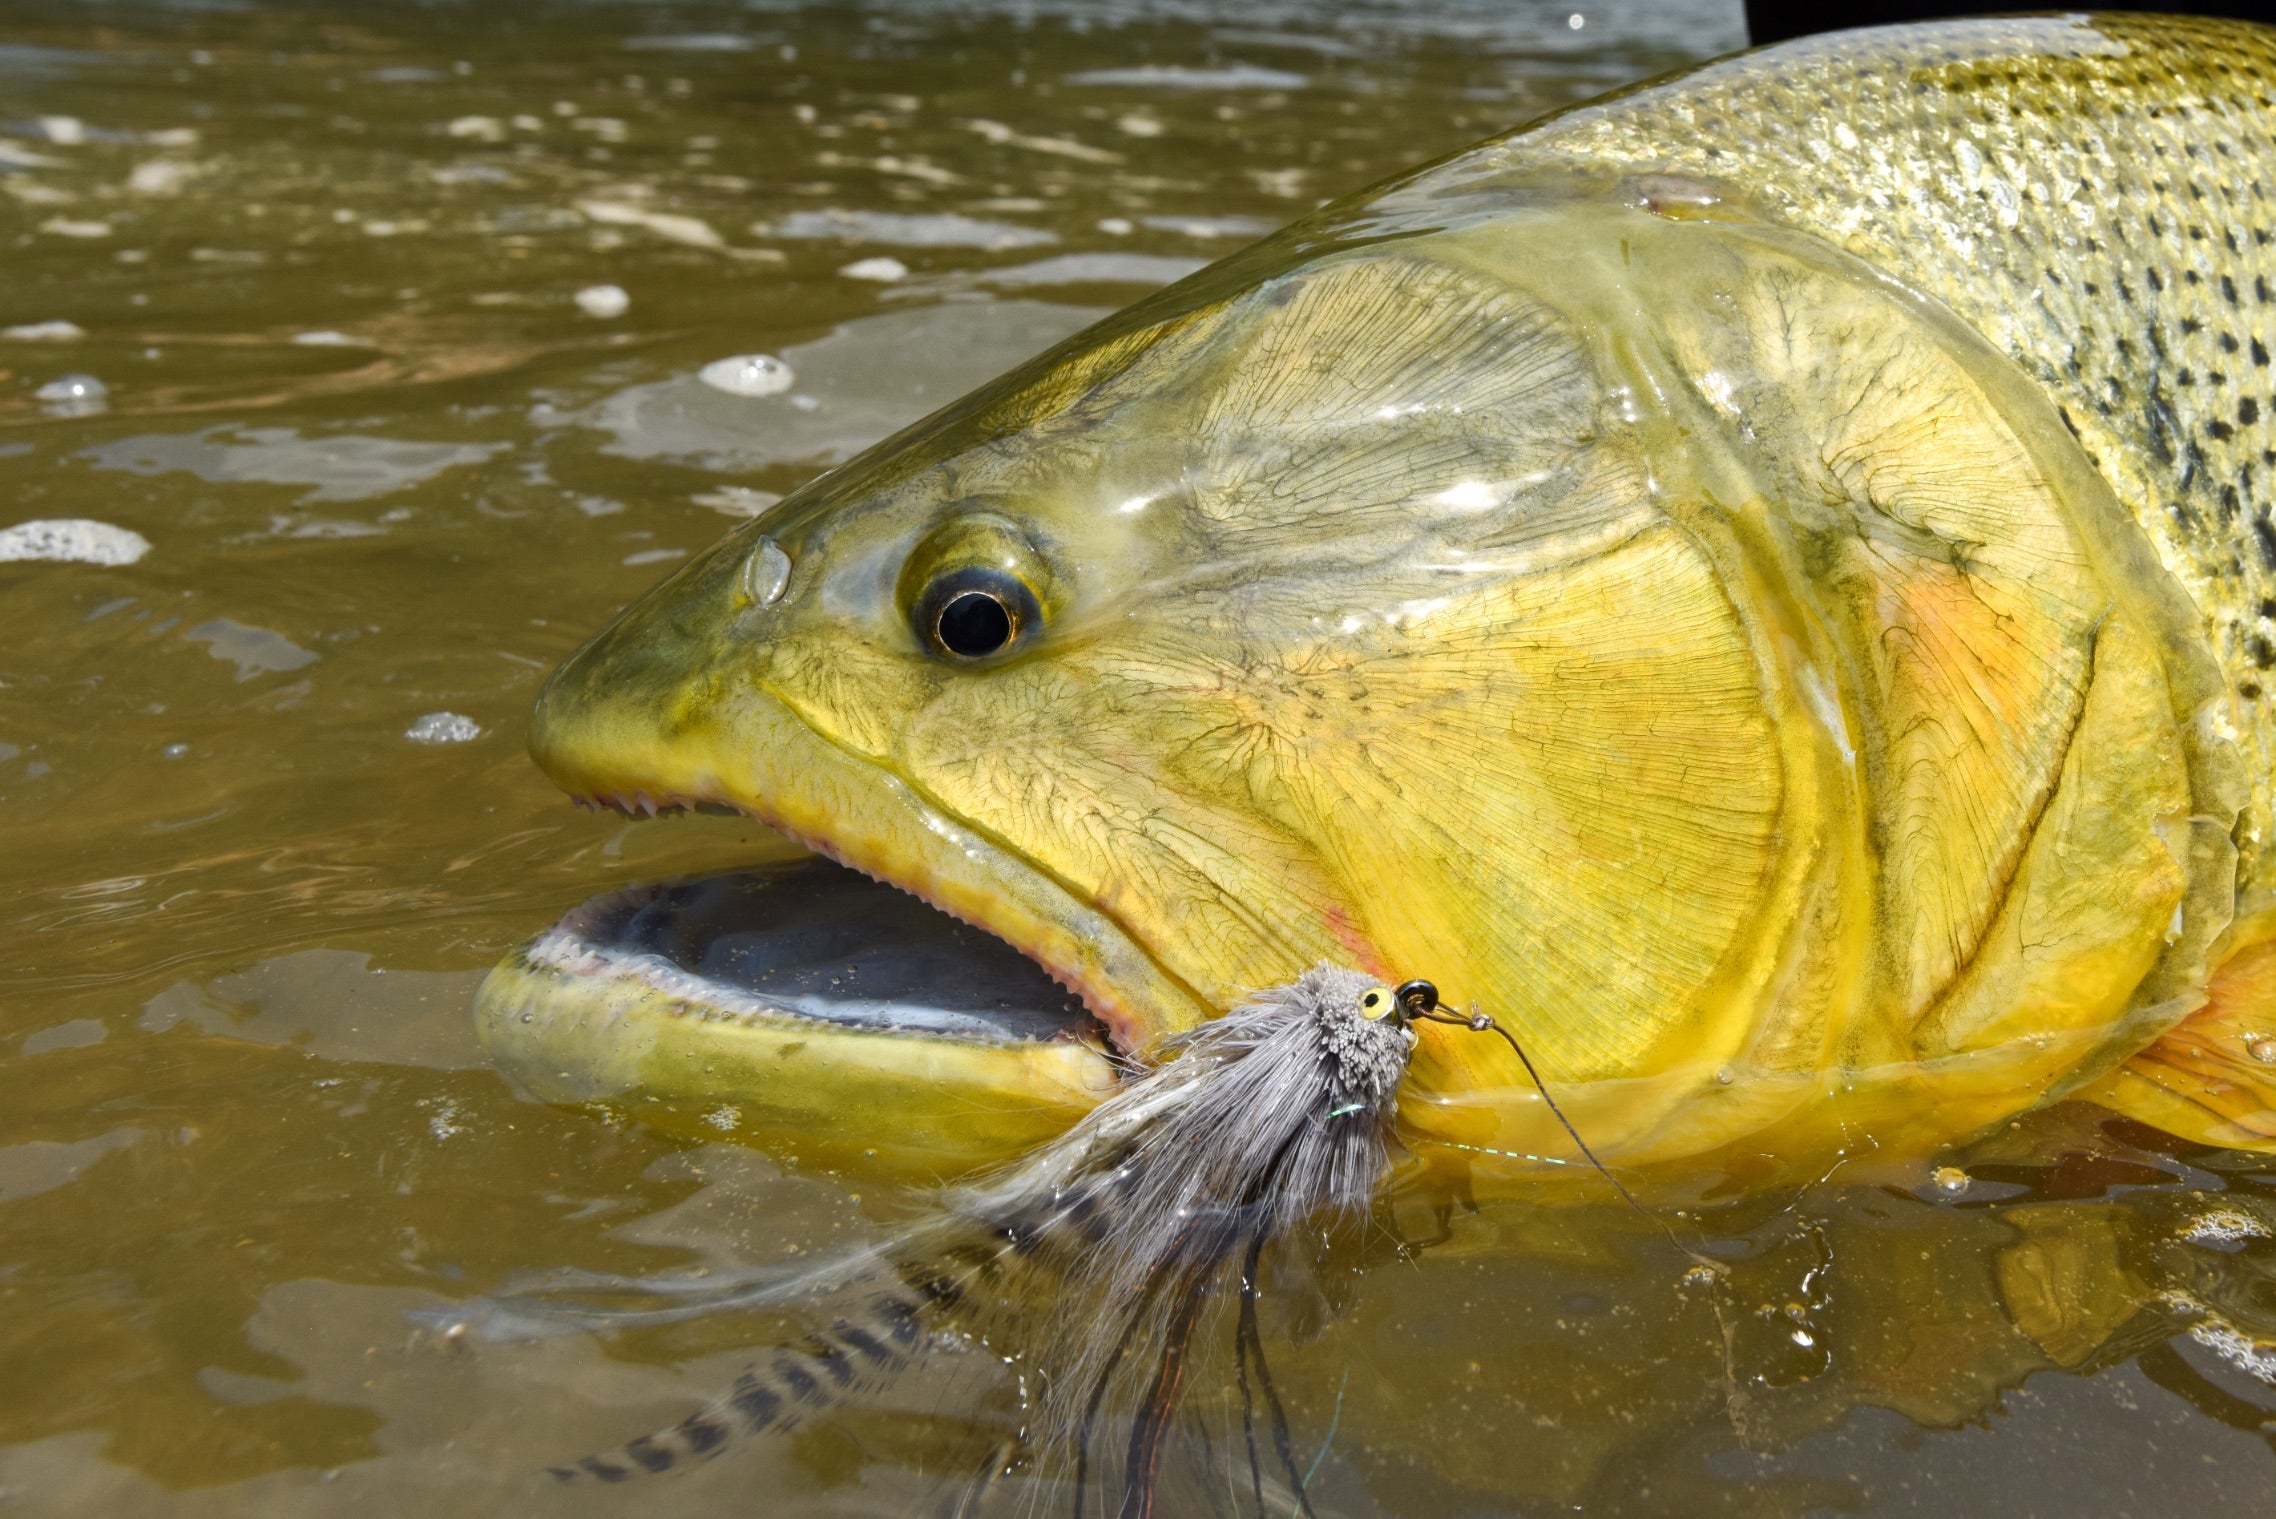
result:
[[(1131, 1054), (1322, 961), (1427, 975), (1614, 1152), (2105, 1043), (2199, 868), (2151, 827), (2187, 711), (2046, 399), (1714, 196), (1395, 203), (737, 528), (551, 679), (535, 758), (920, 893)], [(1534, 1132), (1502, 1041), (1420, 1032), (1413, 1123)]]

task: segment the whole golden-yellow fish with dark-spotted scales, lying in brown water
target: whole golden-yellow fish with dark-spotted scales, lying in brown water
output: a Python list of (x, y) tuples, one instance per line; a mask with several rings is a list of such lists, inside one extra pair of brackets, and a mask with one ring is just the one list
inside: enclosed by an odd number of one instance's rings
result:
[[(2046, 16), (1566, 109), (817, 478), (530, 749), (922, 895), (1127, 1054), (1334, 961), (1491, 1013), (1614, 1166), (2064, 1095), (2265, 1148), (2271, 91), (2271, 30)], [(983, 1155), (1115, 1082), (580, 952), (485, 993), (539, 1091)], [(1570, 1155), (1463, 1029), (1400, 1114), (1486, 1187)]]

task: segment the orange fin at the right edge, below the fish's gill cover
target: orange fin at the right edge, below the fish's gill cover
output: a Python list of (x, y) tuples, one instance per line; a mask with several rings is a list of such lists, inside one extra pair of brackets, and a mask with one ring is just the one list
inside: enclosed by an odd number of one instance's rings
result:
[(2230, 931), (2205, 1004), (2080, 1098), (2167, 1134), (2276, 1152), (2276, 911)]

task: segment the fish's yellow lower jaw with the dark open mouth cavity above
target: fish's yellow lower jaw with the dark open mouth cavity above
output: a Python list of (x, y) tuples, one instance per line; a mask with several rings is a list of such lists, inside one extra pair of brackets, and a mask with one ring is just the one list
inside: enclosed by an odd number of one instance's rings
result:
[(533, 1095), (817, 1159), (979, 1164), (1118, 1082), (1040, 966), (826, 859), (592, 897), (489, 975), (476, 1020)]

